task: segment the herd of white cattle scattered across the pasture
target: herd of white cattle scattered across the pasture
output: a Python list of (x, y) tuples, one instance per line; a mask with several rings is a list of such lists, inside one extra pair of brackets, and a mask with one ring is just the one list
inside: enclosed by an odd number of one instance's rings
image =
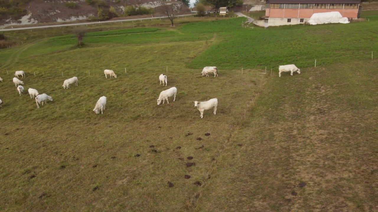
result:
[[(297, 72), (298, 74), (301, 74), (301, 70), (299, 68), (297, 68), (295, 65), (279, 66), (279, 77), (281, 77), (282, 72), (290, 72), (290, 75), (293, 75), (293, 72)], [(214, 77), (218, 76), (217, 67), (206, 66), (205, 68), (203, 68), (201, 75), (202, 76), (206, 75), (206, 77), (209, 77), (209, 74), (211, 74), (211, 73), (214, 74)], [(107, 75), (110, 75), (110, 78), (112, 78), (112, 77), (117, 78), (117, 75), (112, 70), (105, 69), (104, 74), (105, 74), (105, 78), (107, 78)], [(19, 75), (21, 75), (22, 78), (23, 77), (26, 78), (25, 72), (24, 71), (16, 71), (14, 75), (15, 75), (15, 77), (13, 78), (13, 83), (17, 87), (17, 91), (19, 92), (19, 94), (21, 96), (23, 94), (24, 88), (20, 84), (23, 84), (23, 81), (19, 80), (18, 77), (19, 77)], [(0, 77), (0, 81), (1, 82), (3, 81), (3, 79), (1, 77)], [(167, 76), (166, 75), (161, 74), (159, 76), (159, 81), (160, 81), (160, 84), (163, 83), (163, 86), (164, 86), (164, 83), (165, 83), (165, 86), (167, 86)], [(75, 86), (77, 86), (78, 85), (77, 77), (72, 77), (72, 78), (69, 78), (67, 80), (64, 80), (63, 89), (70, 88), (70, 84), (75, 84)], [(39, 108), (40, 103), (42, 103), (42, 106), (43, 106), (43, 101), (45, 101), (45, 103), (46, 103), (46, 100), (53, 101), (53, 98), (51, 96), (49, 96), (47, 94), (39, 94), (36, 89), (29, 88), (28, 92), (29, 92), (30, 98), (35, 98), (37, 108)], [(163, 104), (164, 104), (165, 100), (167, 100), (167, 103), (169, 104), (168, 97), (172, 97), (172, 96), (174, 97), (173, 101), (175, 101), (176, 100), (176, 94), (177, 94), (177, 88), (176, 87), (172, 87), (170, 89), (167, 89), (165, 91), (160, 92), (159, 98), (157, 99), (157, 104), (160, 105), (161, 100), (163, 100)], [(3, 102), (0, 99), (0, 107), (2, 107), (2, 105), (1, 105), (2, 103)], [(218, 106), (218, 99), (217, 98), (212, 98), (211, 100), (201, 101), (201, 102), (200, 101), (193, 101), (193, 103), (194, 103), (194, 107), (197, 108), (198, 111), (201, 112), (201, 118), (203, 118), (203, 111), (204, 110), (209, 110), (209, 109), (214, 108), (214, 115), (217, 112), (217, 106)], [(105, 96), (100, 97), (99, 100), (96, 103), (95, 109), (93, 109), (93, 112), (95, 112), (96, 114), (99, 114), (99, 112), (101, 110), (101, 114), (102, 114), (103, 111), (105, 110), (105, 104), (106, 104), (106, 97)]]

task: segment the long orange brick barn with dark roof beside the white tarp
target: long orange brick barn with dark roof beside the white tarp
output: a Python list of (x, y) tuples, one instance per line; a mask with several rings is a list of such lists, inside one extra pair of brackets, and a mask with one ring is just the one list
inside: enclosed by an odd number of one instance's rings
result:
[(319, 12), (338, 11), (342, 17), (359, 18), (361, 0), (266, 0), (264, 26), (303, 24)]

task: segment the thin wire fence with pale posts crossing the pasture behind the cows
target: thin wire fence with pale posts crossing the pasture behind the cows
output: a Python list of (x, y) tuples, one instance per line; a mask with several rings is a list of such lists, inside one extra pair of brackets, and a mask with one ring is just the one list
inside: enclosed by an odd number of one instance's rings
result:
[[(357, 55), (369, 55), (369, 59), (371, 58), (371, 60), (373, 60), (373, 56), (374, 54), (376, 54), (377, 52), (366, 52), (366, 53), (361, 53), (361, 54), (353, 54), (353, 55), (343, 55), (343, 56), (338, 56), (338, 57), (328, 57), (328, 58), (319, 58), (319, 59), (314, 59), (314, 60), (308, 60), (308, 61), (303, 61), (303, 62), (299, 62), (299, 63), (295, 63), (294, 65), (296, 65), (298, 68), (300, 68), (301, 66), (300, 65), (303, 65), (305, 63), (308, 63), (308, 66), (307, 67), (311, 67), (311, 65), (316, 68), (317, 67), (317, 62), (318, 62), (318, 66), (319, 66), (319, 61), (324, 61), (324, 60), (330, 60), (330, 59), (335, 59), (335, 58), (341, 58), (341, 57), (355, 57)], [(366, 57), (364, 57), (363, 59), (368, 59)], [(282, 64), (281, 64), (282, 65)], [(321, 64), (320, 64), (321, 65)], [(218, 71), (219, 70), (229, 70), (229, 71), (240, 71), (241, 74), (244, 74), (246, 73), (246, 71), (259, 71), (258, 73), (260, 74), (272, 74), (273, 72), (273, 69), (277, 69), (279, 65), (270, 65), (270, 66), (265, 66), (265, 67), (218, 67), (217, 66), (217, 69)], [(154, 66), (154, 67), (123, 67), (123, 68), (112, 68), (113, 71), (119, 73), (119, 72), (124, 72), (125, 74), (140, 74), (141, 72), (139, 70), (144, 70), (144, 71), (149, 71), (149, 72), (166, 72), (166, 73), (169, 73), (169, 72), (177, 72), (176, 70), (177, 69), (180, 69), (180, 70), (192, 70), (192, 71), (202, 71), (203, 69), (203, 66), (198, 66), (198, 67), (195, 67), (195, 66), (186, 66), (186, 67), (183, 67), (183, 66)], [(19, 70), (1, 70), (0, 71), (0, 77), (2, 75), (14, 75), (15, 71), (19, 71)], [(51, 70), (47, 70), (47, 69), (40, 69), (40, 68), (27, 68), (26, 70), (23, 70), (27, 75), (31, 75), (31, 76), (62, 76), (64, 78), (66, 77), (72, 77), (71, 75), (72, 74), (88, 74), (88, 76), (90, 75), (98, 75), (98, 74), (104, 74), (104, 69), (91, 69), (91, 70), (83, 70), (83, 71), (77, 71), (77, 70), (72, 70), (72, 71), (51, 71)]]

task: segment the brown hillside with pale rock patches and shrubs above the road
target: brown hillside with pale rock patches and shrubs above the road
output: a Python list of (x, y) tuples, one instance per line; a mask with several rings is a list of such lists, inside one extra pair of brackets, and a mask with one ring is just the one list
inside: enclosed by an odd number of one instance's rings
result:
[[(182, 2), (175, 3), (178, 4), (177, 8), (181, 14), (190, 13), (189, 8)], [(21, 6), (24, 9), (21, 18), (19, 18), (20, 16), (0, 14), (0, 26), (96, 20), (98, 8), (103, 7), (107, 13), (110, 6), (115, 9), (117, 15), (122, 16), (125, 7), (131, 5), (152, 8), (154, 16), (163, 15), (161, 3), (158, 0), (29, 0)]]

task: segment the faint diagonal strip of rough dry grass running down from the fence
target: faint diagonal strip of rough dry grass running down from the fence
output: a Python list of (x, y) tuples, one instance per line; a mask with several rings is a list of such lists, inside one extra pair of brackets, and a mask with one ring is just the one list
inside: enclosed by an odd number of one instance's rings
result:
[[(217, 158), (221, 158), (222, 155), (227, 154), (226, 152), (231, 149), (232, 147), (232, 141), (235, 133), (237, 133), (240, 129), (244, 127), (244, 125), (248, 122), (248, 111), (251, 111), (251, 108), (255, 105), (257, 99), (259, 98), (260, 94), (263, 91), (263, 88), (265, 84), (268, 82), (269, 79), (263, 80), (262, 84), (259, 86), (259, 88), (256, 89), (256, 91), (253, 93), (251, 98), (246, 103), (245, 109), (243, 109), (242, 115), (240, 115), (239, 121), (235, 122), (234, 124), (231, 124), (233, 127), (231, 127), (231, 132), (228, 135), (226, 141), (222, 144), (220, 149), (215, 153), (215, 156), (213, 157), (213, 163), (209, 167), (209, 171), (205, 174), (206, 180), (210, 178), (211, 175), (214, 174), (214, 172), (217, 172)], [(200, 200), (200, 197), (208, 186), (211, 184), (209, 182), (206, 182), (206, 180), (201, 181), (201, 186), (198, 188), (196, 192), (191, 196), (189, 200), (186, 202), (186, 210), (187, 211), (194, 211), (196, 210), (196, 207), (198, 205), (198, 201)]]

